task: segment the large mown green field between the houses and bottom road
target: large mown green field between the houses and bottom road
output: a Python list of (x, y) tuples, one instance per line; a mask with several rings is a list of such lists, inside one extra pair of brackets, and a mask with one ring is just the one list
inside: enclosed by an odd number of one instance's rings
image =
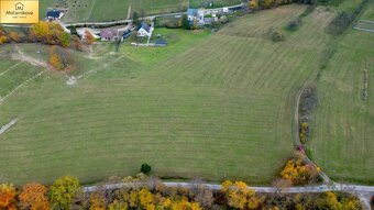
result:
[[(296, 93), (331, 41), (333, 13), (322, 9), (284, 42), (268, 37), (304, 10), (250, 14), (215, 34), (160, 30), (164, 48), (72, 53), (73, 74), (92, 74), (70, 87), (45, 73), (0, 106), (1, 124), (20, 119), (0, 136), (0, 181), (69, 174), (90, 183), (133, 175), (146, 162), (161, 177), (270, 184), (294, 151)], [(36, 56), (31, 48), (22, 47)]]

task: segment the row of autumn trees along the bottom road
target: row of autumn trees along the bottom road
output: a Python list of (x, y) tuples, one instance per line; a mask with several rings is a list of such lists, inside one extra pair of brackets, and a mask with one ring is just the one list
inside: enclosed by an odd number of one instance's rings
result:
[[(118, 183), (118, 178), (110, 181)], [(84, 192), (73, 176), (51, 186), (0, 184), (1, 210), (361, 210), (360, 200), (344, 192), (257, 194), (243, 181), (226, 180), (220, 190), (195, 179), (186, 187), (166, 187), (161, 179), (139, 174), (121, 180), (125, 187)]]

